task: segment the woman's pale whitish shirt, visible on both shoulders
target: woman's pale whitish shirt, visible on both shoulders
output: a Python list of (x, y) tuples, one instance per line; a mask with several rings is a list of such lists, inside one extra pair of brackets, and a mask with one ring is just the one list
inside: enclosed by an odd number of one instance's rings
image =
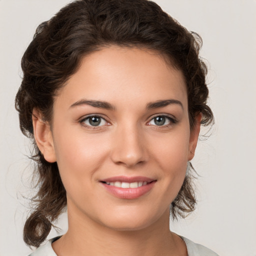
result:
[[(186, 244), (188, 256), (218, 256), (217, 253), (206, 248), (205, 246), (198, 243), (194, 243), (183, 236), (180, 237), (184, 240)], [(59, 238), (59, 236), (48, 240), (46, 244), (38, 247), (34, 252), (29, 254), (28, 256), (57, 256), (57, 254), (51, 247), (51, 243), (55, 241), (57, 238)]]

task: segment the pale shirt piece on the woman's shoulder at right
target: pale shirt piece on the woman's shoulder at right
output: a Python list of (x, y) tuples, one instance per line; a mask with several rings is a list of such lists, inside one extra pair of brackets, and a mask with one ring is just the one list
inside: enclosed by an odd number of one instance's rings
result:
[(184, 240), (186, 244), (188, 256), (218, 256), (217, 253), (208, 249), (207, 247), (198, 243), (194, 243), (183, 236), (180, 237)]

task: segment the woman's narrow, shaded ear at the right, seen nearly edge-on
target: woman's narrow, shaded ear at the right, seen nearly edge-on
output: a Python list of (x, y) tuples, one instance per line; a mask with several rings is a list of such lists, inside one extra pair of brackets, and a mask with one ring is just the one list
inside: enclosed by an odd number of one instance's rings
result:
[(189, 136), (189, 145), (188, 145), (188, 157), (187, 160), (190, 161), (194, 157), (194, 151), (197, 145), (198, 136), (200, 132), (200, 125), (201, 125), (202, 114), (199, 113), (195, 117), (195, 123), (193, 128), (190, 130)]

